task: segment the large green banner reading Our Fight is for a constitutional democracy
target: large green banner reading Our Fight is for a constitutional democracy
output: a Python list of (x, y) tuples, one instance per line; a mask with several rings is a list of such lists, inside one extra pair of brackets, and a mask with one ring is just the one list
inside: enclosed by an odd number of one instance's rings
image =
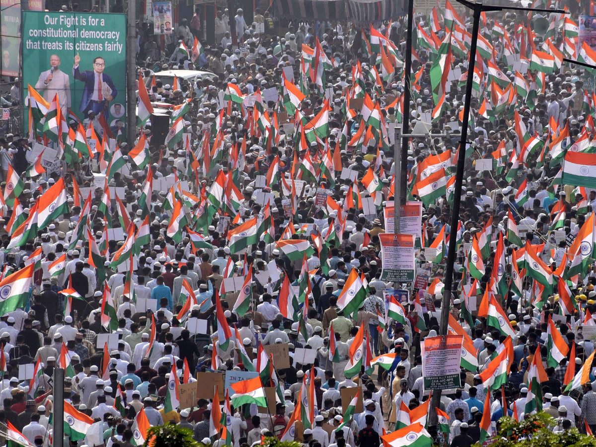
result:
[[(69, 78), (69, 111), (82, 121), (88, 110), (94, 108), (98, 113), (103, 110), (113, 134), (117, 135), (121, 127), (122, 134), (126, 135), (125, 14), (23, 11), (22, 48), (24, 98), (27, 97), (27, 84), (30, 84), (33, 88), (39, 86), (36, 90), (46, 101), (52, 100), (55, 91), (44, 89), (43, 80), (51, 70), (52, 55), (57, 55), (60, 71)], [(73, 66), (77, 55), (80, 63), (78, 79), (75, 79)], [(104, 67), (95, 67), (97, 57), (104, 59)], [(101, 60), (97, 64), (101, 64)], [(95, 68), (103, 68), (101, 97), (97, 94), (99, 86), (95, 85)], [(60, 89), (60, 85), (56, 89)], [(67, 97), (66, 90), (58, 92), (59, 98)], [(24, 119), (27, 129), (27, 113), (24, 113)]]

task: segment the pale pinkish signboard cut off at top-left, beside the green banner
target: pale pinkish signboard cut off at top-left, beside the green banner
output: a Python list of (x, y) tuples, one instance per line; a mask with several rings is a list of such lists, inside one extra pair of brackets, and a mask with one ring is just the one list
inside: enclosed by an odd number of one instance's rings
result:
[[(18, 76), (21, 45), (21, 2), (19, 0), (0, 0), (2, 24), (2, 75)], [(25, 85), (25, 84), (24, 84)], [(7, 119), (7, 118), (3, 118)]]

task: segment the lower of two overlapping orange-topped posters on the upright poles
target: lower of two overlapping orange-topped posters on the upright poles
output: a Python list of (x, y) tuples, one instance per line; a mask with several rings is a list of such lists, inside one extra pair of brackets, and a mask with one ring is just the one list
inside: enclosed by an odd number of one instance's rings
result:
[(414, 235), (381, 233), (382, 281), (414, 281)]

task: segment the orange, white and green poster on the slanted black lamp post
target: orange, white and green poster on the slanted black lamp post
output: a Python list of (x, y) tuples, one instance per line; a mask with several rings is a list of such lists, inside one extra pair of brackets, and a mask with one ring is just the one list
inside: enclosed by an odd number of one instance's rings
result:
[(459, 388), (463, 336), (427, 337), (422, 347), (422, 376), (425, 390)]

